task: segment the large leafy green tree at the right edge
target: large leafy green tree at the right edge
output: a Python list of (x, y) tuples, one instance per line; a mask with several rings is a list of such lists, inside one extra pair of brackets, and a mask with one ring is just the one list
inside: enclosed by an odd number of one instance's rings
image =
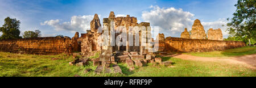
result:
[(238, 0), (236, 12), (230, 23), (227, 23), (228, 33), (232, 37), (244, 37), (246, 40), (255, 39), (256, 24), (255, 24), (255, 0)]

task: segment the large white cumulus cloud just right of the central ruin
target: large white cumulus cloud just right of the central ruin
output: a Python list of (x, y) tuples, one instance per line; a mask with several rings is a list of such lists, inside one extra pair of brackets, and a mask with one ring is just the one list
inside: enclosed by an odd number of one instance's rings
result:
[(174, 7), (164, 9), (150, 6), (150, 8), (152, 10), (142, 12), (142, 19), (150, 22), (151, 26), (159, 26), (159, 32), (163, 32), (166, 36), (179, 37), (185, 27), (191, 29), (194, 14)]

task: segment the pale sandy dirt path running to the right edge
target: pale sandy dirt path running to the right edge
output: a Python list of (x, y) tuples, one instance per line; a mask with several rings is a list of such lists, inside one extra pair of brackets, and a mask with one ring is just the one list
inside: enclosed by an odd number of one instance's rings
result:
[(166, 57), (181, 58), (184, 60), (196, 60), (196, 61), (216, 61), (227, 62), (229, 64), (243, 64), (249, 68), (256, 69), (256, 54), (236, 56), (236, 57), (199, 57), (185, 54), (167, 55)]

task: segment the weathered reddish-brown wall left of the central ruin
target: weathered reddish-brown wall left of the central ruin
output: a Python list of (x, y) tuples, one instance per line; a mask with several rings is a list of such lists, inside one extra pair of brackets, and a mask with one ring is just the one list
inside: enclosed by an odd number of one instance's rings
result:
[(72, 45), (69, 37), (35, 37), (15, 40), (1, 40), (1, 52), (29, 53), (36, 55), (57, 55), (71, 53)]

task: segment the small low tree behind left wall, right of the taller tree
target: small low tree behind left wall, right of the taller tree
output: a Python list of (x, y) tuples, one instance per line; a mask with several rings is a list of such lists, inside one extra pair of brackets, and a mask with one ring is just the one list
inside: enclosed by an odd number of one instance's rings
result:
[(39, 31), (39, 30), (35, 30), (35, 32), (34, 31), (25, 31), (22, 36), (23, 36), (23, 38), (40, 37), (41, 31)]

